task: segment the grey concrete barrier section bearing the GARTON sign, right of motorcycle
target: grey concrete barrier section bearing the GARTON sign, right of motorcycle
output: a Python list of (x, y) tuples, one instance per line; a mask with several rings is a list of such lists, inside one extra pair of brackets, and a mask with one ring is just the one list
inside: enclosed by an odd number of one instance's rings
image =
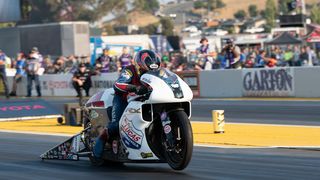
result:
[(200, 72), (201, 97), (320, 97), (320, 67)]

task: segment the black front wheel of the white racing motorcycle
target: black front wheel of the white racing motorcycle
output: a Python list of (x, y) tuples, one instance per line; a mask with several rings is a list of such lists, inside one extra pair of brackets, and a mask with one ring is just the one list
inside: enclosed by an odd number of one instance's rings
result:
[(165, 147), (164, 155), (172, 169), (182, 170), (188, 166), (192, 157), (192, 128), (188, 116), (184, 111), (171, 112), (169, 117), (175, 146), (170, 149)]

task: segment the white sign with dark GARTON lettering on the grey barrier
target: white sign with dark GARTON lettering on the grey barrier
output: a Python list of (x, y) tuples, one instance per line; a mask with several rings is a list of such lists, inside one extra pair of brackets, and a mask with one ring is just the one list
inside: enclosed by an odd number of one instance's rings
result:
[(243, 96), (294, 96), (292, 68), (244, 69), (242, 71)]

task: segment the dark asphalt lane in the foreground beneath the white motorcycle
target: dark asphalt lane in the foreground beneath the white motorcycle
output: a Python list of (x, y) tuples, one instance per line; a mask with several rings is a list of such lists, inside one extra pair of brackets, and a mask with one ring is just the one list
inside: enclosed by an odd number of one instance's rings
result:
[(65, 137), (0, 132), (0, 179), (319, 179), (320, 153), (273, 148), (194, 147), (189, 166), (167, 164), (93, 167), (39, 155)]

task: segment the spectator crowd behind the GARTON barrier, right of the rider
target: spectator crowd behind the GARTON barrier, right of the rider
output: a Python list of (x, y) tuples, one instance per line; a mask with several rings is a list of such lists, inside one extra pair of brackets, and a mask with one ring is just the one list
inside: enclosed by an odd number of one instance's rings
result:
[(320, 65), (315, 50), (310, 46), (240, 48), (233, 43), (232, 39), (228, 39), (223, 49), (218, 52), (210, 47), (206, 38), (202, 38), (200, 44), (198, 49), (187, 52), (185, 58), (180, 58), (180, 62), (173, 64), (171, 68), (183, 71)]

